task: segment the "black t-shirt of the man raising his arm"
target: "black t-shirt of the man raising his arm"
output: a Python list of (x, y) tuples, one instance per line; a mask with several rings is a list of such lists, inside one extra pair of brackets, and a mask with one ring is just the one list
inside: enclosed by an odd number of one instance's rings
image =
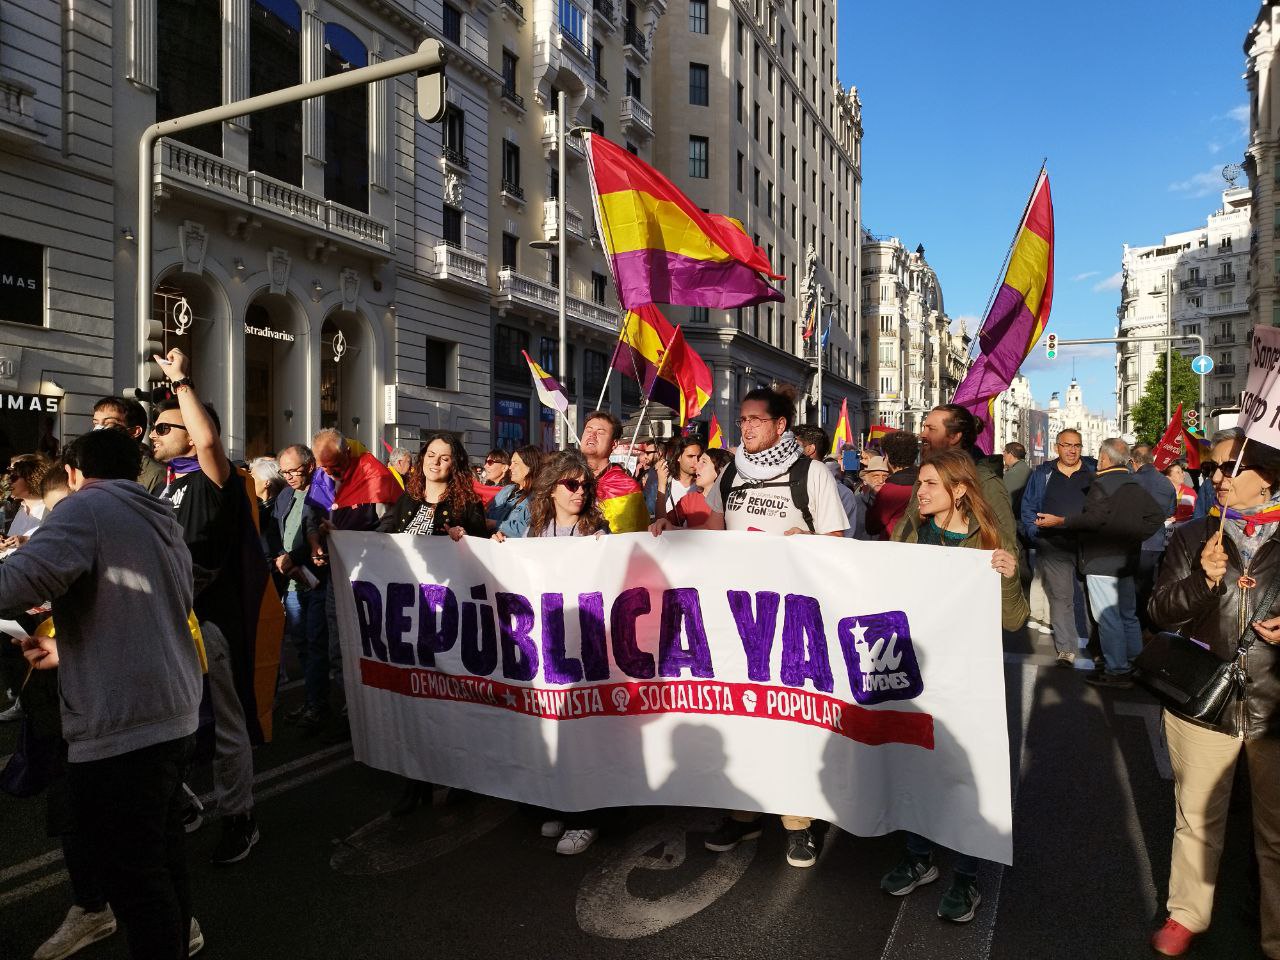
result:
[(196, 616), (220, 623), (241, 605), (239, 541), (248, 509), (244, 483), (233, 472), (219, 488), (196, 470), (174, 477), (163, 499), (173, 504), (182, 539), (191, 549)]

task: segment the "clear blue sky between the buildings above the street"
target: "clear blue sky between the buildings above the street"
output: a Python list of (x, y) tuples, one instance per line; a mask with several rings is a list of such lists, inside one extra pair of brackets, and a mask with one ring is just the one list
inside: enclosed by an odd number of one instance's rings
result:
[[(863, 101), (863, 223), (918, 243), (975, 329), (1041, 159), (1056, 288), (1048, 329), (1110, 337), (1121, 244), (1203, 224), (1248, 131), (1256, 0), (844, 0), (840, 78)], [(1242, 186), (1247, 186), (1240, 180)], [(1023, 366), (1038, 404), (1071, 379), (1115, 412), (1115, 348)]]

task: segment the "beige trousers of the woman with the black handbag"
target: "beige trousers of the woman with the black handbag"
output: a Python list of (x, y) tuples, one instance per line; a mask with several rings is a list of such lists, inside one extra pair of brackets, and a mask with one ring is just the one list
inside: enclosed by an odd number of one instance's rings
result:
[(1174, 767), (1175, 805), (1169, 915), (1196, 933), (1208, 929), (1231, 780), (1243, 750), (1253, 788), (1262, 951), (1280, 957), (1280, 739), (1238, 740), (1165, 710), (1165, 740)]

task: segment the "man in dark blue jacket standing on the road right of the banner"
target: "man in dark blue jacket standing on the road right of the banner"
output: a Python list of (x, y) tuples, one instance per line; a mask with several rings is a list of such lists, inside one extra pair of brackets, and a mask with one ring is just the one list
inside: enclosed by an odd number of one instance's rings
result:
[(1032, 471), (1023, 489), (1019, 532), (1028, 549), (1036, 552), (1034, 566), (1048, 598), (1050, 627), (1060, 667), (1073, 667), (1080, 649), (1080, 626), (1076, 607), (1076, 534), (1064, 527), (1043, 527), (1036, 522), (1041, 513), (1074, 517), (1084, 509), (1097, 471), (1097, 461), (1083, 457), (1078, 430), (1057, 434), (1057, 458), (1041, 463)]

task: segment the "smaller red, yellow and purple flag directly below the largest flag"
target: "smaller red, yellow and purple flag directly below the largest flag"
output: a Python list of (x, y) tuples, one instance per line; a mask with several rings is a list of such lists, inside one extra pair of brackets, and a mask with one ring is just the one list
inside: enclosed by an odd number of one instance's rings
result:
[(707, 364), (653, 303), (628, 310), (622, 319), (612, 366), (640, 383), (648, 397), (675, 410), (681, 426), (712, 396)]

